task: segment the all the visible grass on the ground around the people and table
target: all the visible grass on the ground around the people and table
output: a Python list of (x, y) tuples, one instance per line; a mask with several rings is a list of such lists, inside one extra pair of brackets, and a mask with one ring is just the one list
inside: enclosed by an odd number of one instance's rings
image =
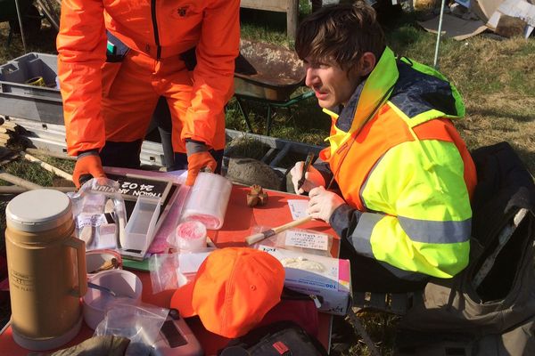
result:
[[(309, 12), (309, 5), (301, 1), (301, 17)], [(388, 43), (399, 54), (432, 65), (436, 36), (424, 32), (416, 24), (418, 13), (405, 13), (387, 20)], [(283, 14), (243, 10), (242, 35), (292, 48), (284, 34)], [(55, 33), (44, 28), (36, 36), (29, 38), (29, 52), (54, 53)], [(0, 63), (22, 55), (20, 36), (15, 36), (8, 47), (6, 23), (0, 24)], [(457, 86), (466, 105), (466, 117), (456, 123), (469, 149), (496, 142), (510, 142), (523, 158), (524, 163), (535, 173), (535, 40), (496, 37), (482, 34), (457, 42), (443, 38), (440, 43), (440, 71)], [(302, 93), (300, 89), (295, 94)], [(266, 108), (250, 103), (251, 123), (255, 132), (262, 133), (266, 126)], [(314, 99), (301, 101), (291, 112), (277, 109), (274, 117), (272, 136), (291, 141), (322, 145), (328, 135), (329, 118), (317, 107)], [(246, 126), (235, 101), (226, 110), (226, 125), (240, 131)], [(235, 153), (260, 158), (266, 148), (254, 142), (240, 142)], [(72, 163), (49, 161), (54, 166), (70, 172)], [(287, 166), (292, 165), (288, 159)], [(23, 162), (13, 162), (5, 166), (12, 174), (20, 175), (32, 182), (52, 185), (51, 174), (41, 168)], [(0, 203), (4, 213), (4, 202)], [(4, 218), (0, 224), (4, 223)], [(1, 248), (1, 247), (0, 247)], [(393, 330), (397, 318), (386, 314), (366, 314), (363, 316), (366, 331), (372, 336), (382, 354), (392, 353)], [(366, 355), (366, 346), (356, 340), (351, 354)]]

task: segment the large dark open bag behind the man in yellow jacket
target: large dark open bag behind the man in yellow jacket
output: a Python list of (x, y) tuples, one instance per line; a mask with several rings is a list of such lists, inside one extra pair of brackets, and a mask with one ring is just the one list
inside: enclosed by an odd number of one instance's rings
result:
[(399, 355), (535, 354), (535, 185), (506, 142), (472, 152), (470, 262), (399, 322)]

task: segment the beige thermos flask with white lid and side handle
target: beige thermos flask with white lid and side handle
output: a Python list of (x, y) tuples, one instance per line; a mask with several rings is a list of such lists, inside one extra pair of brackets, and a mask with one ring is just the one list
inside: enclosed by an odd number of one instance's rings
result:
[(67, 344), (82, 325), (86, 246), (73, 236), (70, 198), (57, 190), (30, 190), (5, 209), (5, 245), (12, 336), (29, 350)]

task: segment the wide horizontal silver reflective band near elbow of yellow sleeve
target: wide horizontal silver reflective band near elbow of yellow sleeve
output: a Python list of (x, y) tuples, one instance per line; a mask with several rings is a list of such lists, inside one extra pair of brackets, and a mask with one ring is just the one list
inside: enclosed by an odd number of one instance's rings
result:
[(432, 222), (398, 217), (399, 225), (407, 236), (416, 242), (426, 244), (454, 244), (470, 239), (472, 219), (462, 222)]

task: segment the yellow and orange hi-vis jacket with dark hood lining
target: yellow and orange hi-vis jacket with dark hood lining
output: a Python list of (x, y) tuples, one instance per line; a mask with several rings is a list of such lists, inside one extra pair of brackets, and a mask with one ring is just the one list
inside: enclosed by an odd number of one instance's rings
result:
[(464, 115), (454, 85), (388, 47), (333, 115), (320, 157), (347, 205), (329, 223), (399, 278), (451, 278), (468, 263), (477, 178), (451, 123)]

